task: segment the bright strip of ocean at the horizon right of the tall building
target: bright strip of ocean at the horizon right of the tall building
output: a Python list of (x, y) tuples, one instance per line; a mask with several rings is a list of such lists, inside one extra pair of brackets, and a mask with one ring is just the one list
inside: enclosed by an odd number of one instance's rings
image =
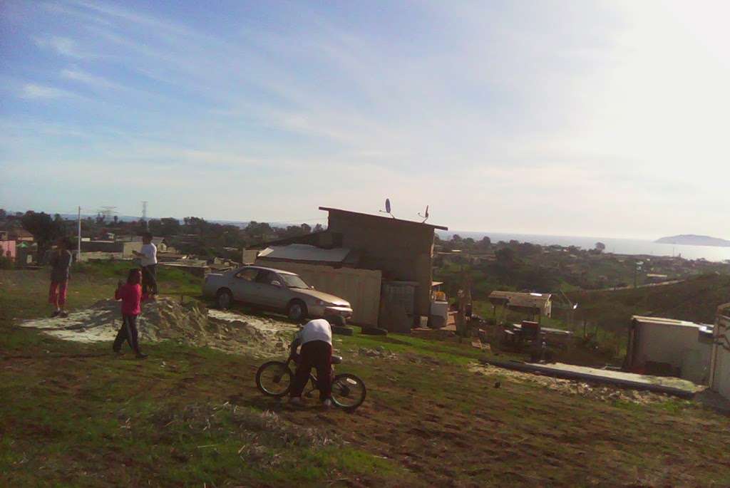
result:
[(497, 232), (459, 232), (437, 231), (439, 238), (450, 239), (454, 234), (461, 237), (471, 237), (480, 240), (484, 236), (488, 236), (492, 242), (498, 241), (515, 241), (529, 242), (531, 244), (540, 244), (542, 246), (550, 246), (558, 244), (560, 246), (576, 246), (582, 249), (593, 249), (596, 242), (606, 244), (605, 252), (626, 255), (650, 255), (650, 256), (677, 256), (681, 255), (685, 259), (706, 259), (708, 261), (724, 261), (730, 260), (730, 247), (712, 247), (712, 246), (683, 246), (680, 244), (658, 244), (653, 241), (642, 241), (641, 239), (612, 239), (610, 237), (578, 237), (578, 236), (540, 236), (534, 234), (510, 234)]

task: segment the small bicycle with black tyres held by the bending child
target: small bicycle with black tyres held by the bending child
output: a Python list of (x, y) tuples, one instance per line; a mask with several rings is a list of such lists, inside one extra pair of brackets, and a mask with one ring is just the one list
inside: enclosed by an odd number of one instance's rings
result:
[[(294, 360), (289, 357), (284, 361), (269, 361), (262, 364), (256, 371), (256, 386), (264, 395), (274, 398), (281, 398), (291, 389), (294, 373), (289, 368), (289, 363)], [(334, 365), (342, 363), (342, 356), (332, 356), (332, 371)], [(318, 390), (317, 376), (310, 371), (310, 390), (304, 392), (304, 396), (310, 397), (312, 392)], [(306, 387), (305, 387), (306, 388)], [(365, 382), (354, 374), (342, 373), (332, 378), (332, 403), (345, 411), (353, 411), (365, 401), (367, 390)]]

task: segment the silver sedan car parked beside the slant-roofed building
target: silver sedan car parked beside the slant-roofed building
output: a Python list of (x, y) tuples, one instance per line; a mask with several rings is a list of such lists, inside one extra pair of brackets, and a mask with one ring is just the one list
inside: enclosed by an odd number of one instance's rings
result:
[(307, 317), (352, 317), (350, 302), (310, 287), (298, 274), (281, 269), (243, 266), (205, 276), (203, 295), (215, 298), (220, 309), (234, 301), (283, 311), (299, 321)]

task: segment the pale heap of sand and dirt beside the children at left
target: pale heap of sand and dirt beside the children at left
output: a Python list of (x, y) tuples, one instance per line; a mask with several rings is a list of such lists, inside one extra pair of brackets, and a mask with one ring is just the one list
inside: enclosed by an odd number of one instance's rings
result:
[[(65, 319), (34, 319), (20, 325), (67, 341), (113, 341), (121, 326), (120, 304), (103, 300), (88, 309), (73, 311)], [(258, 357), (286, 355), (298, 330), (288, 322), (208, 310), (201, 303), (181, 304), (172, 298), (143, 303), (137, 327), (142, 344), (172, 340)]]

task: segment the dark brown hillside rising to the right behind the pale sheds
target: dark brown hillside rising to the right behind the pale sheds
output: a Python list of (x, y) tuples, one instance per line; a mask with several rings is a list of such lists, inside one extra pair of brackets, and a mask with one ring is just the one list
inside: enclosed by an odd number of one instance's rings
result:
[(730, 302), (730, 276), (709, 274), (665, 286), (568, 295), (580, 304), (577, 319), (614, 332), (626, 330), (634, 314), (712, 323), (718, 306)]

